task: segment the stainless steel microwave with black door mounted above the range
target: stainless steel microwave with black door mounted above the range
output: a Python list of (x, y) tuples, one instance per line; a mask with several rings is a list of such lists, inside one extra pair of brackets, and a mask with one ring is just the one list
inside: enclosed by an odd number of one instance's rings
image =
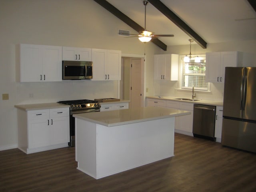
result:
[(92, 79), (92, 61), (62, 61), (62, 79)]

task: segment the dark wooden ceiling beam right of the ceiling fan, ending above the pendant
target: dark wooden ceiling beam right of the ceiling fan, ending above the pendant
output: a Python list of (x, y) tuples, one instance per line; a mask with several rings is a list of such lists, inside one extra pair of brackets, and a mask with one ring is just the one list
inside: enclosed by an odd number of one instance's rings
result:
[(188, 36), (190, 36), (198, 45), (206, 49), (207, 43), (194, 31), (190, 26), (188, 26), (183, 20), (181, 20), (174, 12), (172, 12), (168, 7), (166, 7), (160, 0), (148, 0), (155, 8), (157, 8), (162, 14), (164, 14), (168, 19), (170, 19), (176, 26), (178, 26), (182, 31), (184, 31)]

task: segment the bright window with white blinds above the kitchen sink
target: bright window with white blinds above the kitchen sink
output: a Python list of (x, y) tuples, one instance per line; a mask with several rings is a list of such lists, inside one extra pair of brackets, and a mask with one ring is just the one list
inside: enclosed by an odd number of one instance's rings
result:
[[(184, 62), (184, 56), (180, 57), (180, 88), (208, 91), (208, 83), (205, 82), (205, 55), (198, 55), (200, 62), (194, 62), (191, 58), (189, 62)], [(192, 56), (193, 57), (193, 56)]]

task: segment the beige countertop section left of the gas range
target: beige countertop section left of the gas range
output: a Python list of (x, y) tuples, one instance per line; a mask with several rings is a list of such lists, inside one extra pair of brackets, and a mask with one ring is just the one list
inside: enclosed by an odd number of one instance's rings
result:
[(25, 111), (29, 111), (29, 110), (42, 110), (42, 109), (54, 109), (54, 108), (69, 108), (69, 105), (60, 104), (60, 103), (38, 103), (38, 104), (14, 105), (14, 107), (25, 110)]

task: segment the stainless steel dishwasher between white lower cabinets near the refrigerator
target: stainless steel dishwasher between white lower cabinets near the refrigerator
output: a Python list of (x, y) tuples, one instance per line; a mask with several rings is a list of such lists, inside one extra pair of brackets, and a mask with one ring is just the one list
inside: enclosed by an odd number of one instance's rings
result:
[(215, 141), (216, 106), (194, 104), (193, 135)]

